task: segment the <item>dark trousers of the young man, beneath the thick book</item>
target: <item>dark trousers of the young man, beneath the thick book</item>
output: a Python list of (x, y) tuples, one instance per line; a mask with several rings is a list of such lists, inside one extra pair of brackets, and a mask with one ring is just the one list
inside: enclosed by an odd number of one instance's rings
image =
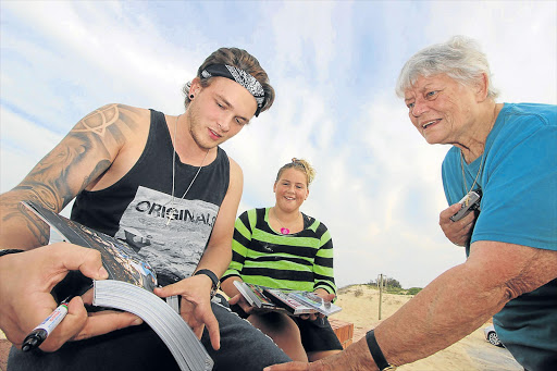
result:
[[(214, 360), (213, 370), (261, 371), (290, 359), (273, 341), (230, 309), (212, 304), (219, 321), (221, 348), (213, 350), (207, 330), (201, 343)], [(10, 350), (8, 371), (180, 370), (166, 345), (147, 325), (119, 330), (94, 338), (69, 342), (57, 351)], [(197, 370), (193, 370), (197, 371)]]

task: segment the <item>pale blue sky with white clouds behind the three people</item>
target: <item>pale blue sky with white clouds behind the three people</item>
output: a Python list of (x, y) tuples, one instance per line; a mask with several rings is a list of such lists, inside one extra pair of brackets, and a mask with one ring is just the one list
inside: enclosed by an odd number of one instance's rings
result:
[[(318, 171), (302, 211), (335, 246), (338, 286), (383, 273), (425, 286), (463, 262), (438, 227), (441, 162), (395, 92), (419, 49), (456, 34), (487, 53), (502, 102), (557, 103), (555, 1), (0, 1), (0, 191), (110, 102), (183, 112), (181, 88), (219, 47), (256, 55), (272, 109), (223, 147), (244, 170), (238, 212), (272, 206), (277, 169)], [(67, 211), (65, 211), (67, 212)]]

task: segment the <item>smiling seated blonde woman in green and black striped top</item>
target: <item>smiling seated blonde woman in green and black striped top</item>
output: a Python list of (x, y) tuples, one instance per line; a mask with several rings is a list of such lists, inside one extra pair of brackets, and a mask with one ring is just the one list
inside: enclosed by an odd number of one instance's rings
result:
[(323, 223), (299, 210), (314, 173), (307, 161), (298, 159), (278, 170), (273, 186), (275, 205), (245, 211), (236, 220), (232, 262), (221, 279), (231, 305), (242, 308), (251, 324), (300, 361), (343, 349), (326, 318), (256, 312), (233, 282), (314, 292), (325, 300), (335, 297), (331, 235)]

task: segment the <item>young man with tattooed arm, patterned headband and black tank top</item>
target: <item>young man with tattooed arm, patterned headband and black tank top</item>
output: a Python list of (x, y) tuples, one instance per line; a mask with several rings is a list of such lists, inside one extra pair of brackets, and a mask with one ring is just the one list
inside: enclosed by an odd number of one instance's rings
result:
[[(242, 357), (243, 370), (261, 370), (288, 358), (248, 323), (211, 302), (211, 292), (231, 261), (243, 187), (239, 165), (219, 145), (268, 110), (274, 90), (257, 59), (245, 50), (221, 48), (184, 92), (186, 111), (178, 116), (108, 104), (79, 121), (17, 187), (1, 196), (0, 246), (32, 249), (48, 242), (48, 227), (21, 200), (59, 212), (75, 198), (73, 220), (127, 240), (166, 285), (156, 294), (181, 295), (181, 314), (202, 336), (215, 369), (233, 370)], [(2, 302), (21, 302), (13, 295)], [(48, 300), (52, 310), (55, 305)], [(83, 306), (77, 307), (84, 316)], [(45, 350), (61, 346), (51, 354), (12, 348), (10, 369), (177, 369), (147, 325), (110, 332), (126, 324), (122, 322), (99, 329), (89, 321), (89, 327), (46, 345)], [(25, 327), (23, 332), (33, 329), (28, 323)], [(72, 337), (87, 339), (62, 345)], [(21, 336), (10, 338), (21, 347)]]

